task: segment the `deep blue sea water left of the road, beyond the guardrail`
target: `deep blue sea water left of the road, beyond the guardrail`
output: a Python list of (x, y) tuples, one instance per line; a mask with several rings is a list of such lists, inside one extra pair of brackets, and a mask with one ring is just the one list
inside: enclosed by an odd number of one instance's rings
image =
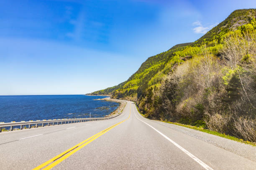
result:
[(119, 103), (93, 100), (104, 96), (17, 95), (0, 96), (0, 122), (104, 117)]

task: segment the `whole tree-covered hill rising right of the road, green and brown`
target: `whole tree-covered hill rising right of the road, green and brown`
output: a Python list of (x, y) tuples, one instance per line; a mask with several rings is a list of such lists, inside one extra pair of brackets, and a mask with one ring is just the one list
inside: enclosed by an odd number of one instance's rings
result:
[(255, 75), (256, 9), (235, 10), (195, 42), (149, 57), (127, 81), (92, 95), (256, 142)]

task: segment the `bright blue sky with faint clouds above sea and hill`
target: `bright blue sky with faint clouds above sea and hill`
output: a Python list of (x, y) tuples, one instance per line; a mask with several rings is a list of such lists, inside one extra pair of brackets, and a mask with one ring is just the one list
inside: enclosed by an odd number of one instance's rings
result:
[(85, 94), (255, 0), (2, 0), (0, 95)]

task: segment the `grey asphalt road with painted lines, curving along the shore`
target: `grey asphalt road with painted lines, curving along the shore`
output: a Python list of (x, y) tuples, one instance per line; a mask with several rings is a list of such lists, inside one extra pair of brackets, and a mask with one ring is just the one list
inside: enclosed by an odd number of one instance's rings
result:
[(0, 134), (1, 170), (36, 167), (56, 170), (256, 170), (256, 147), (148, 120), (128, 102), (123, 113), (110, 120)]

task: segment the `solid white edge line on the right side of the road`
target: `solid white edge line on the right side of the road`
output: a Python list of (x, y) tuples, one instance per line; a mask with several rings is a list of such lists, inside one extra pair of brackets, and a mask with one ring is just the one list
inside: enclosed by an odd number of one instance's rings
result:
[[(134, 107), (133, 107), (133, 111), (134, 111)], [(135, 117), (140, 120), (136, 114)], [(143, 120), (140, 120), (141, 122), (145, 123), (146, 125), (148, 125), (149, 127), (151, 127), (152, 129), (156, 130), (156, 128), (154, 128), (153, 126), (149, 125), (148, 123), (144, 122)], [(205, 168), (206, 170), (213, 170), (212, 168), (210, 168), (208, 165), (206, 165), (204, 162), (202, 162), (202, 160), (198, 159), (197, 157), (195, 157), (192, 153), (190, 153), (189, 151), (185, 150), (184, 148), (182, 148), (180, 145), (178, 145), (177, 143), (175, 143), (173, 140), (171, 140), (170, 138), (168, 138), (166, 135), (164, 135), (163, 133), (161, 133), (159, 130), (156, 130), (156, 132), (158, 132), (160, 135), (162, 135), (164, 138), (166, 138), (167, 140), (169, 140), (172, 144), (174, 144), (175, 146), (177, 146), (180, 150), (182, 150), (184, 153), (186, 153), (187, 155), (189, 155), (189, 157), (191, 157), (193, 160), (195, 160), (197, 163), (199, 163), (203, 168)]]

